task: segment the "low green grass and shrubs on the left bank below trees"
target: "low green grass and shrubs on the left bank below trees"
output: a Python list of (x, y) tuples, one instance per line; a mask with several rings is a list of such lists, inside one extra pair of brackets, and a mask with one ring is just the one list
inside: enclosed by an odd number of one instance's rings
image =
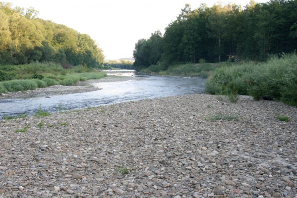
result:
[(33, 62), (25, 65), (0, 65), (0, 94), (45, 88), (53, 85), (75, 85), (78, 81), (106, 77), (94, 68), (75, 66), (64, 69), (56, 63)]

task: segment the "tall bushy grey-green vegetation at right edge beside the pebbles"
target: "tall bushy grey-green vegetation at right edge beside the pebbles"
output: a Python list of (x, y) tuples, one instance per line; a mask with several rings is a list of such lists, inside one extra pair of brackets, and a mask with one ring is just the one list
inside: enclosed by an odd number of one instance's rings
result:
[(215, 70), (206, 84), (210, 94), (237, 92), (254, 99), (280, 100), (297, 106), (297, 54), (270, 57), (265, 63), (247, 62)]

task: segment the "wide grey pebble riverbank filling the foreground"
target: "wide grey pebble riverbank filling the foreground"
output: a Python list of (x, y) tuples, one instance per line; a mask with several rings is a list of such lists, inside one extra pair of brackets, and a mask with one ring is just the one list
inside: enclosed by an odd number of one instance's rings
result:
[(0, 197), (294, 198), (296, 133), (296, 107), (246, 96), (145, 99), (2, 121)]

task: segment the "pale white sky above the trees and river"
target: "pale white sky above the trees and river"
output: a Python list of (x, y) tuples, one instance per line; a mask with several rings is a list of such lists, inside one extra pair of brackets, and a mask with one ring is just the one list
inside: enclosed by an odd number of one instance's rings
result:
[[(192, 9), (217, 0), (2, 0), (13, 7), (34, 7), (39, 18), (64, 24), (96, 41), (106, 59), (132, 58), (135, 43), (151, 33), (165, 32), (186, 3)], [(222, 0), (242, 6), (250, 0)], [(267, 0), (255, 0), (266, 2)]]

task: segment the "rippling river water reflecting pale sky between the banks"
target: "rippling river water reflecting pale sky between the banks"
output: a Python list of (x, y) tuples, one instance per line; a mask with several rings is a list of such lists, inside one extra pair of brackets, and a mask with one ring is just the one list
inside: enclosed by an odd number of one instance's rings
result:
[(132, 77), (127, 81), (94, 83), (94, 86), (102, 88), (94, 92), (57, 95), (50, 98), (0, 99), (0, 118), (5, 115), (33, 114), (40, 106), (43, 110), (55, 112), (60, 109), (78, 109), (130, 100), (202, 93), (206, 82), (203, 78), (143, 75), (133, 70), (106, 72), (108, 75)]

